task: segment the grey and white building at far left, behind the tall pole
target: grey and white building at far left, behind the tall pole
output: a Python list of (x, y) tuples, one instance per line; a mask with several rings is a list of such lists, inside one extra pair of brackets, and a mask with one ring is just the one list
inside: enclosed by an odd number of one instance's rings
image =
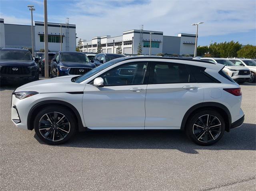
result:
[[(34, 50), (44, 49), (44, 22), (34, 22)], [(76, 25), (48, 22), (48, 49), (60, 51), (60, 26), (62, 29), (62, 50), (76, 51)], [(5, 24), (0, 19), (0, 47), (32, 47), (31, 25)]]

